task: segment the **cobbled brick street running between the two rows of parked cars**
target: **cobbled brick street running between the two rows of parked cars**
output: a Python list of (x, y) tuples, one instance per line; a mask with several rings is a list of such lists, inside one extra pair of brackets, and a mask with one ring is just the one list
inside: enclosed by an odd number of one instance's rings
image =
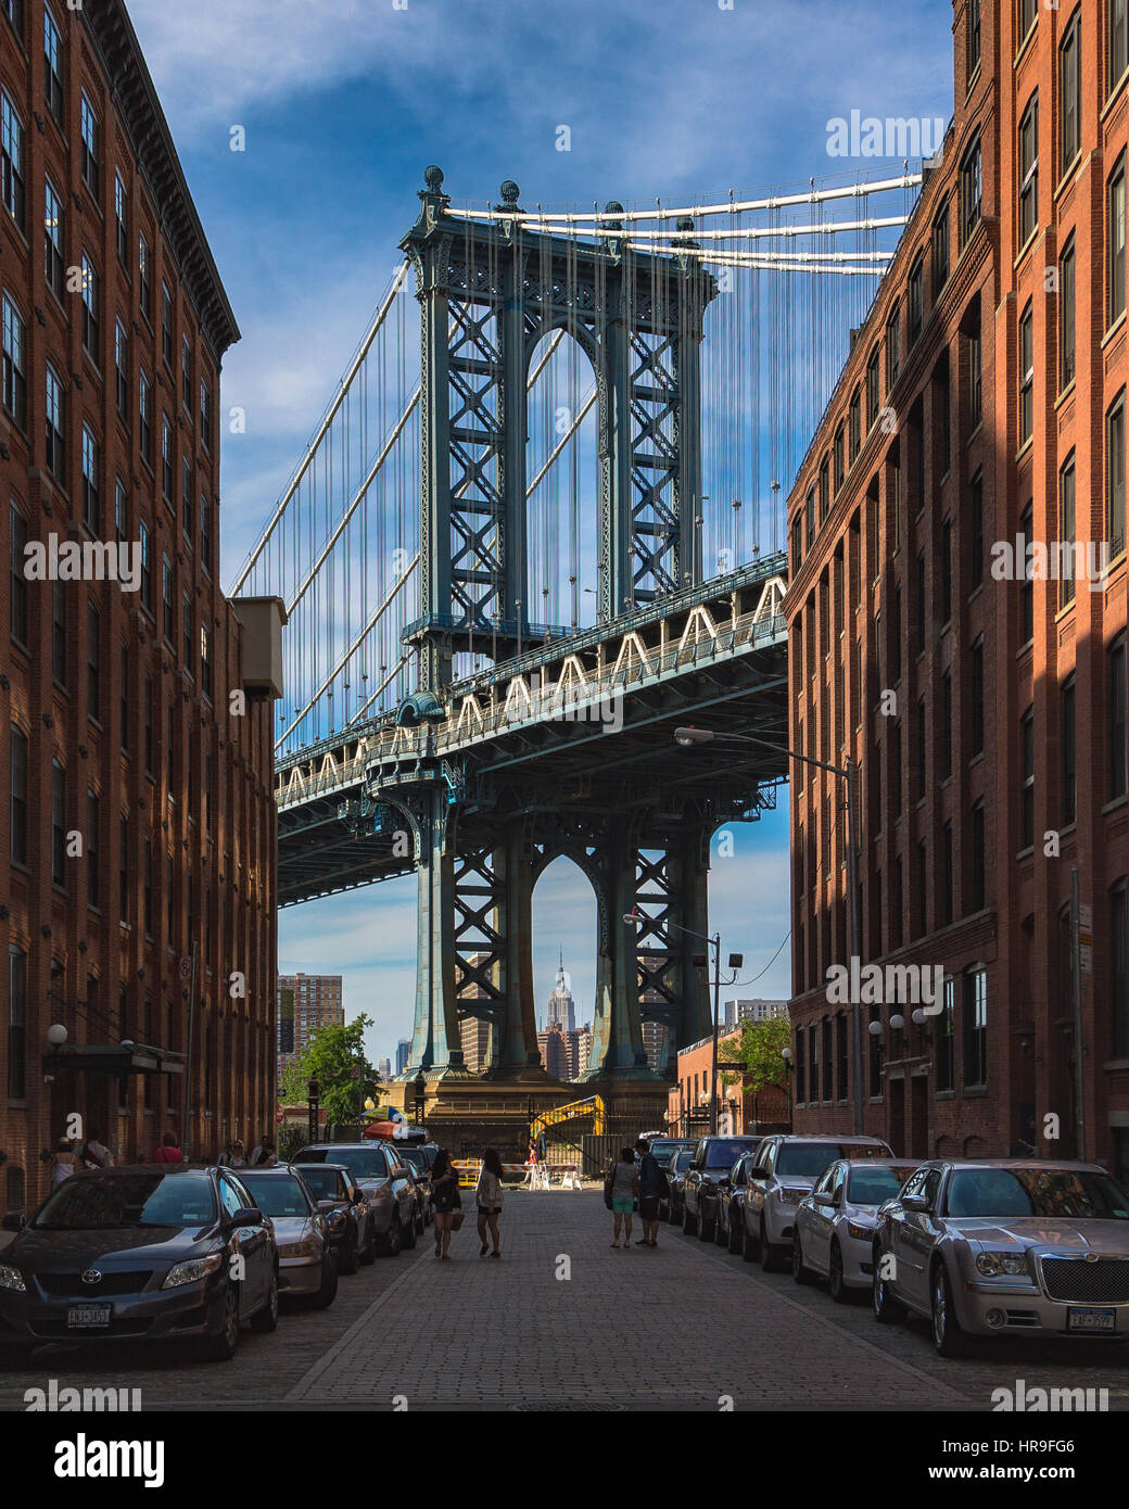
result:
[[(1129, 1408), (1129, 1363), (1082, 1346), (996, 1346), (943, 1363), (927, 1326), (884, 1328), (869, 1307), (660, 1231), (660, 1248), (613, 1252), (598, 1192), (513, 1192), (504, 1257), (478, 1259), (469, 1224), (439, 1263), (430, 1240), (343, 1278), (323, 1314), (287, 1314), (273, 1337), (245, 1332), (234, 1363), (175, 1354), (44, 1349), (0, 1373), (0, 1408), (45, 1379), (139, 1387), (146, 1408), (483, 1406), (735, 1409), (989, 1409), (992, 1390), (1109, 1390)], [(638, 1234), (638, 1227), (637, 1227)], [(564, 1277), (568, 1274), (568, 1277)]]

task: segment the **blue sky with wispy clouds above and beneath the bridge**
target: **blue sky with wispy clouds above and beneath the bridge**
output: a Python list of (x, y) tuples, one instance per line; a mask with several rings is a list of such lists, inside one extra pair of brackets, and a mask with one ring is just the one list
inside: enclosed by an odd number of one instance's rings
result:
[[(942, 0), (128, 0), (243, 340), (222, 400), (223, 576), (258, 537), (392, 272), (423, 167), (456, 199), (724, 198), (841, 171), (827, 121), (948, 119)], [(557, 128), (571, 151), (557, 151)], [(246, 151), (232, 152), (232, 127)], [(862, 164), (897, 171), (898, 164)], [(743, 978), (788, 933), (786, 807), (714, 860), (711, 920)], [(539, 1016), (557, 949), (581, 1020), (595, 904), (566, 862), (534, 896)], [(281, 914), (279, 966), (344, 975), (374, 1056), (411, 1031), (415, 884)], [(786, 996), (789, 949), (747, 993)]]

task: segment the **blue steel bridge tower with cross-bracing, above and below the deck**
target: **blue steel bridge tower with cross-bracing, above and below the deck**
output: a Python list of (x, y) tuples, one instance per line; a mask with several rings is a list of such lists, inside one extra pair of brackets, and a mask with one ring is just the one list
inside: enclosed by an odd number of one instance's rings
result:
[[(441, 718), (460, 653), (495, 664), (564, 634), (533, 623), (527, 581), (527, 382), (539, 343), (568, 330), (598, 391), (601, 625), (700, 581), (700, 343), (717, 288), (700, 260), (628, 246), (608, 219), (589, 241), (524, 226), (519, 190), (501, 186), (494, 214), (448, 213), (438, 167), (424, 172), (420, 216), (400, 241), (421, 309), (420, 569), (423, 613), (405, 631), (418, 691), (401, 723)], [(622, 205), (610, 204), (614, 216)], [(679, 237), (693, 247), (693, 222)], [(652, 1079), (648, 1010), (684, 1044), (709, 1029), (700, 973), (666, 931), (644, 952), (622, 924), (640, 886), (658, 884), (664, 919), (705, 931), (708, 825), (648, 831), (638, 815), (593, 813), (554, 831), (549, 792), (478, 792), (457, 770), (405, 795), (418, 872), (417, 1014), (405, 1077), (466, 1073), (460, 1016), (492, 1025), (497, 1079), (537, 1079), (531, 895), (539, 871), (568, 853), (598, 898), (598, 1010), (590, 1073)], [(646, 857), (644, 857), (646, 856)], [(661, 931), (661, 928), (660, 928)], [(675, 981), (672, 988), (670, 982)], [(664, 984), (660, 984), (664, 982)], [(477, 999), (460, 1000), (466, 985)]]

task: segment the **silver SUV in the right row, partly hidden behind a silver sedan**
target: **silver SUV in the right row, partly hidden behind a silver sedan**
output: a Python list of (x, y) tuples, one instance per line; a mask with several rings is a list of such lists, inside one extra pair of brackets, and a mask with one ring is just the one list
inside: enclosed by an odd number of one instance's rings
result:
[(877, 1136), (791, 1136), (773, 1133), (758, 1150), (759, 1166), (749, 1169), (744, 1198), (744, 1257), (761, 1259), (767, 1274), (788, 1263), (795, 1210), (838, 1157), (894, 1157)]

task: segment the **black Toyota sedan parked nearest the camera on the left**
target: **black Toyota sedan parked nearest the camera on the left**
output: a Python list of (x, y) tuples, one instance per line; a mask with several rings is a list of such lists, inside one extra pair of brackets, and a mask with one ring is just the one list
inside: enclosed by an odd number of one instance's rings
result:
[(134, 1165), (72, 1174), (0, 1251), (0, 1346), (196, 1338), (235, 1354), (278, 1325), (278, 1248), (229, 1168)]

